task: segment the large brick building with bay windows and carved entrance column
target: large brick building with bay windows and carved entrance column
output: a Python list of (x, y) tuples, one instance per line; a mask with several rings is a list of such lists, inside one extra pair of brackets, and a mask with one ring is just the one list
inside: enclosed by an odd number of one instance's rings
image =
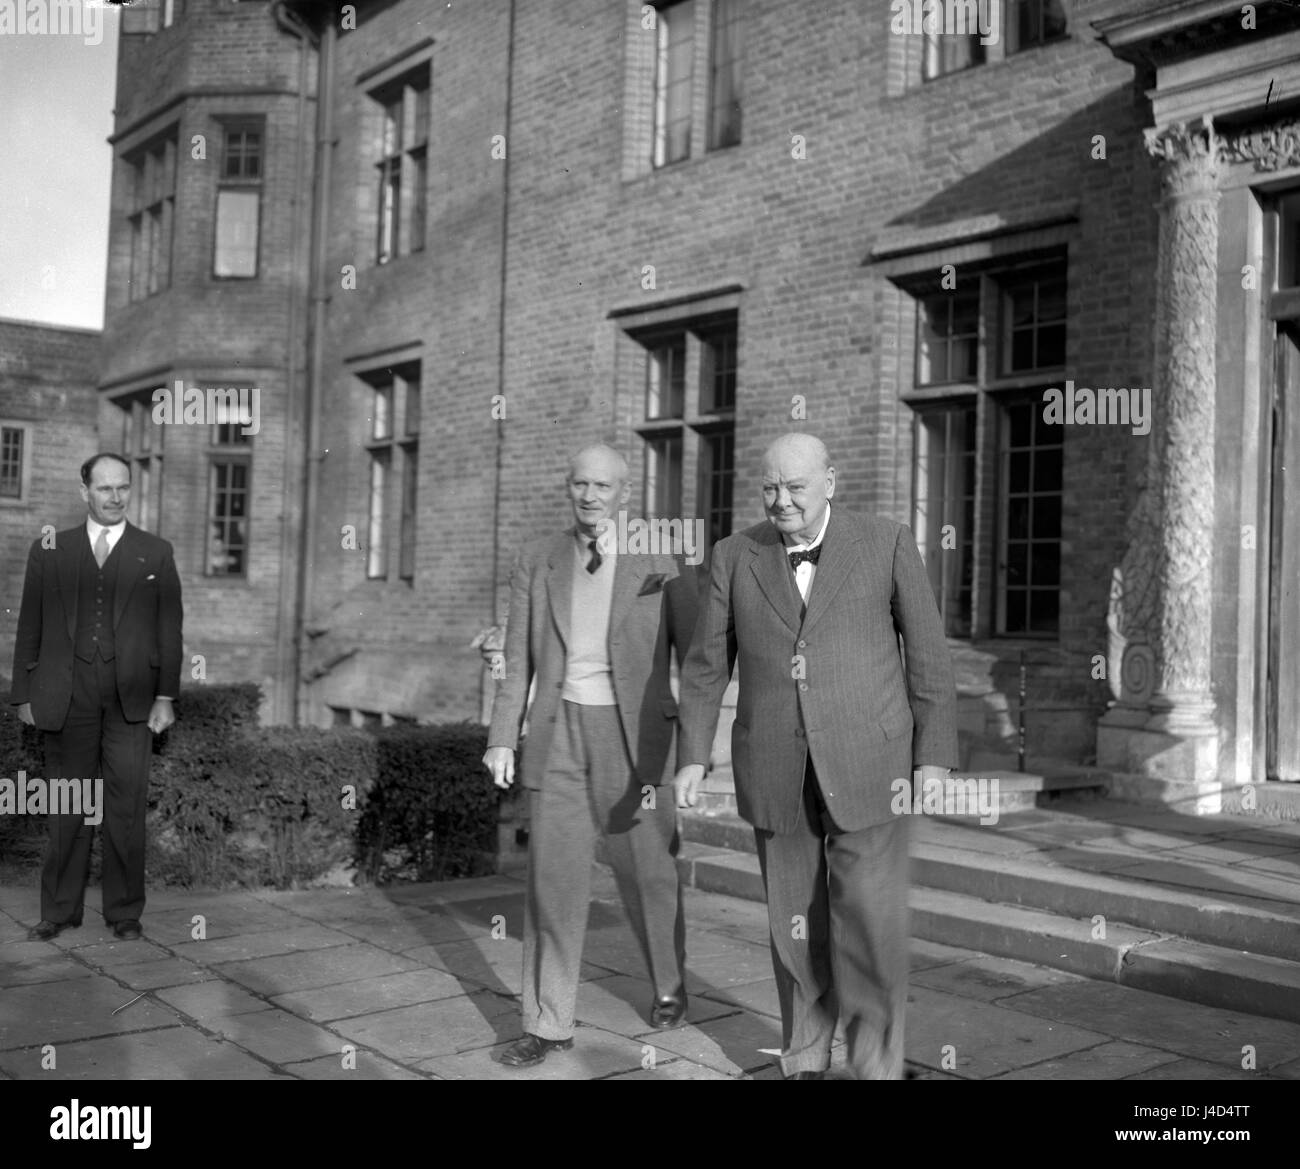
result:
[[(1201, 808), (1300, 778), (1300, 166), (1265, 96), (1297, 14), (932, 10), (124, 20), (100, 427), (152, 475), (207, 676), (277, 719), (473, 716), (472, 641), (563, 523), (567, 453), (616, 442), (640, 510), (716, 538), (797, 428), (837, 503), (916, 533), (963, 766), (1008, 761), (1023, 664), (1031, 759)], [(260, 430), (150, 428), (177, 382), (260, 389)]]

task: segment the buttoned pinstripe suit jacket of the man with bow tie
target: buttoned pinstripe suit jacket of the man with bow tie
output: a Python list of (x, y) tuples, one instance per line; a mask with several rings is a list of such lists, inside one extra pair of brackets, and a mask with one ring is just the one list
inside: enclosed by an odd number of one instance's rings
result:
[(914, 765), (957, 765), (952, 658), (902, 524), (832, 506), (801, 618), (781, 534), (764, 520), (714, 546), (701, 603), (681, 675), (679, 763), (707, 765), (738, 662), (732, 767), (740, 814), (757, 828), (800, 823), (809, 754), (827, 809), (850, 832), (892, 818), (890, 785), (910, 783)]

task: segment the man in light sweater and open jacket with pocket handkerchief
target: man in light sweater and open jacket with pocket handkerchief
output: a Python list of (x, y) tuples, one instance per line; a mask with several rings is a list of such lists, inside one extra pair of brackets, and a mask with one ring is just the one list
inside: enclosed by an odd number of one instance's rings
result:
[(521, 759), (532, 791), (524, 1038), (502, 1056), (515, 1068), (573, 1045), (597, 835), (650, 973), (651, 1025), (673, 1027), (686, 1012), (676, 810), (671, 787), (660, 785), (672, 779), (677, 726), (670, 654), (685, 657), (697, 584), (672, 555), (618, 546), (615, 511), (630, 485), (616, 451), (580, 451), (567, 488), (573, 527), (515, 562), (506, 668), (484, 755), (497, 785), (508, 787), (536, 679)]

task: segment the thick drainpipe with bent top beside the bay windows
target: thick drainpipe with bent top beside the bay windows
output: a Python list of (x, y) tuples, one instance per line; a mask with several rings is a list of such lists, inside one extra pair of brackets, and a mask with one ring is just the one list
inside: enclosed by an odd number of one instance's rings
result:
[[(281, 486), (281, 515), (283, 516), (280, 541), (280, 573), (278, 590), (276, 598), (276, 679), (278, 687), (287, 683), (287, 694), (281, 689), (277, 701), (273, 703), (274, 720), (283, 723), (298, 722), (298, 676), (302, 663), (296, 651), (298, 615), (295, 611), (296, 571), (300, 571), (298, 559), (291, 554), (294, 532), (294, 519), (302, 523), (302, 514), (298, 507), (298, 454), (291, 441), (294, 427), (298, 424), (298, 412), (302, 408), (302, 360), (298, 352), (300, 296), (298, 294), (298, 272), (300, 270), (299, 252), (302, 233), (298, 229), (299, 216), (304, 203), (304, 164), (306, 151), (303, 143), (307, 137), (307, 51), (308, 46), (315, 46), (316, 38), (311, 30), (291, 12), (285, 0), (276, 0), (272, 4), (272, 16), (277, 27), (298, 40), (298, 121), (294, 148), (294, 234), (290, 248), (290, 282), (289, 282), (289, 338), (285, 352), (285, 466)], [(287, 528), (287, 531), (286, 531)], [(291, 567), (292, 566), (292, 567)], [(296, 570), (296, 571), (295, 571)], [(286, 709), (287, 707), (287, 709)]]

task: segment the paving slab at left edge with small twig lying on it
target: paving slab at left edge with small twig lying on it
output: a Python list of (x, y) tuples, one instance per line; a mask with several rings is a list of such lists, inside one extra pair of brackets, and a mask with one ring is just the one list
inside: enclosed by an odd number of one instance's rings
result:
[(66, 982), (9, 987), (4, 991), (0, 1043), (6, 1049), (40, 1047), (177, 1022), (176, 1012), (148, 997), (113, 1014), (130, 999), (130, 991), (104, 975), (81, 978), (73, 987)]

